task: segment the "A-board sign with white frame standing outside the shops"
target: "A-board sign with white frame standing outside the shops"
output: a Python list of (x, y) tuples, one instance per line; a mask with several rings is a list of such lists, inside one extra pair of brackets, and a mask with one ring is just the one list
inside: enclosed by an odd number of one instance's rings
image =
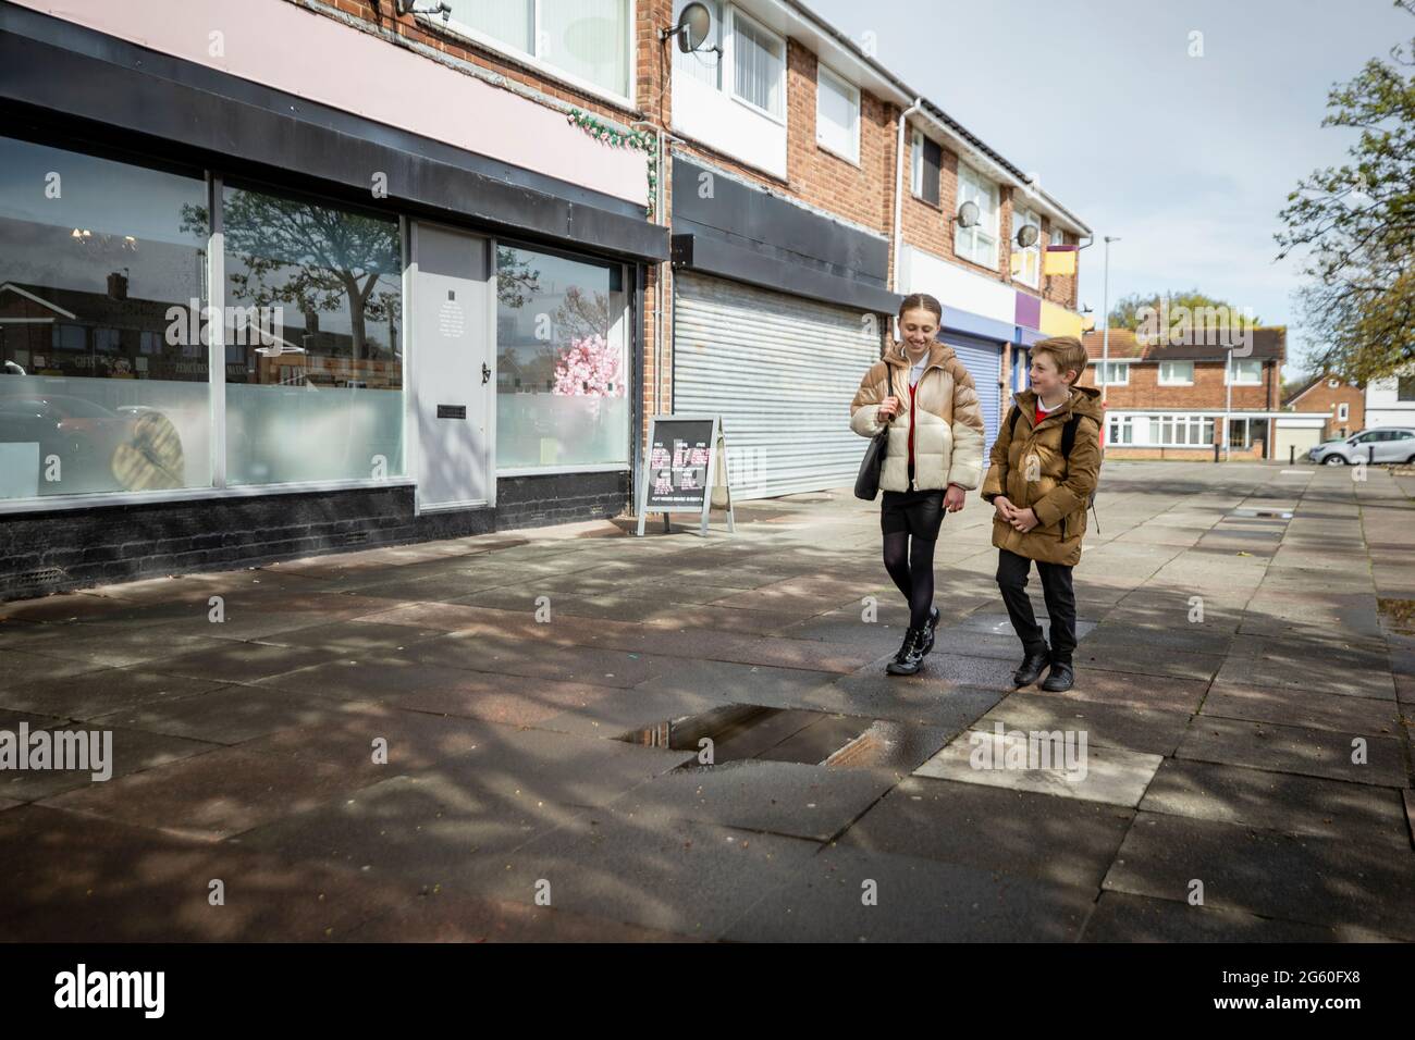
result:
[(732, 491), (727, 488), (727, 446), (717, 416), (654, 416), (648, 426), (648, 451), (638, 480), (638, 533), (651, 512), (696, 512), (708, 533), (708, 514), (720, 492), (726, 499), (727, 531), (733, 528)]

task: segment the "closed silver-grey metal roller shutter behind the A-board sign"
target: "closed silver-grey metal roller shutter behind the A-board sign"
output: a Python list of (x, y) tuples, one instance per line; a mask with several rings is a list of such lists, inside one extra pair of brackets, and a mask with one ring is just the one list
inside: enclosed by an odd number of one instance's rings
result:
[(850, 398), (880, 357), (865, 311), (686, 270), (674, 284), (674, 412), (722, 416), (733, 497), (853, 485)]

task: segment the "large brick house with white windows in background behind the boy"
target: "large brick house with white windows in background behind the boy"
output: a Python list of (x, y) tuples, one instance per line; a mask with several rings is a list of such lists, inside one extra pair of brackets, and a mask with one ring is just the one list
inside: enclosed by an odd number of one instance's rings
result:
[(1278, 458), (1296, 429), (1320, 426), (1281, 410), (1285, 328), (1252, 330), (1245, 357), (1206, 337), (1146, 341), (1112, 328), (1104, 364), (1102, 337), (1081, 340), (1091, 364), (1080, 385), (1105, 389), (1108, 457), (1213, 458), (1227, 416), (1230, 458)]

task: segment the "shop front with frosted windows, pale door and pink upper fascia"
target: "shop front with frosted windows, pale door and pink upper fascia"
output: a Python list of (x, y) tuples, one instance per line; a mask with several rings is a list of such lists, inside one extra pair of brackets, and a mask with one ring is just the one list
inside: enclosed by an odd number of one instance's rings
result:
[(566, 168), (512, 167), (132, 33), (0, 3), (0, 597), (625, 508), (641, 158), (549, 113)]

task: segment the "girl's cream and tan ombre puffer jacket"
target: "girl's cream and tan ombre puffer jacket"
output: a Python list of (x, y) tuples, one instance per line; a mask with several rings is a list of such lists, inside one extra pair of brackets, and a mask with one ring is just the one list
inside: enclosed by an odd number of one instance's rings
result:
[(908, 372), (913, 368), (903, 344), (893, 341), (884, 357), (870, 365), (850, 400), (850, 429), (862, 437), (880, 432), (879, 405), (900, 400), (889, 423), (889, 450), (880, 473), (882, 491), (940, 491), (949, 484), (972, 491), (982, 480), (982, 408), (972, 376), (952, 347), (934, 341), (924, 372), (913, 392), (914, 483), (908, 483)]

